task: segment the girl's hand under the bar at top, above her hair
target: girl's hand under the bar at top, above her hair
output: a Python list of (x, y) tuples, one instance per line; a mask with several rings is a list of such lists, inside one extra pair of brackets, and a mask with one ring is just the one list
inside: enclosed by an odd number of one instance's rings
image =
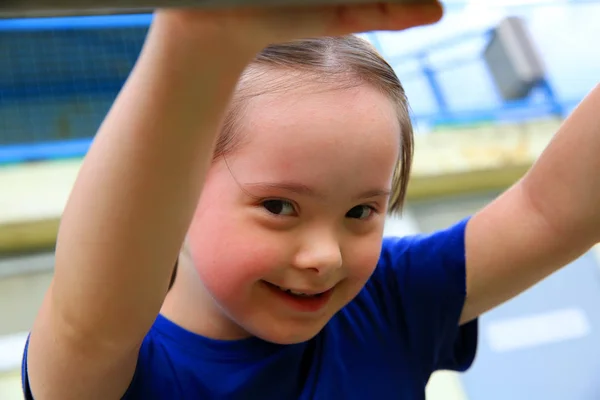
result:
[(443, 9), (439, 2), (431, 1), (428, 5), (378, 3), (218, 11), (168, 9), (158, 14), (188, 34), (203, 37), (209, 34), (213, 40), (222, 40), (223, 45), (250, 46), (258, 51), (268, 44), (294, 39), (374, 30), (399, 31), (432, 24), (441, 19)]

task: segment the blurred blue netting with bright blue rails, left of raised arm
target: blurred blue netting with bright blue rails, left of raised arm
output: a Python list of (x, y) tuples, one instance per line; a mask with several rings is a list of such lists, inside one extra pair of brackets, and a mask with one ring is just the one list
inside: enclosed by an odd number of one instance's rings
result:
[(149, 22), (149, 16), (0, 21), (0, 162), (85, 152)]

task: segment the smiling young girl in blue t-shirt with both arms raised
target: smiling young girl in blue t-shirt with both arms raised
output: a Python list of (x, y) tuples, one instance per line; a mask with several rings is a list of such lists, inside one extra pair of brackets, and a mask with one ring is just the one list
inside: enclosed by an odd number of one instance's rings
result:
[(600, 90), (477, 215), (383, 240), (406, 99), (340, 35), (440, 14), (159, 12), (65, 210), (26, 397), (423, 399), (466, 369), (481, 313), (598, 240)]

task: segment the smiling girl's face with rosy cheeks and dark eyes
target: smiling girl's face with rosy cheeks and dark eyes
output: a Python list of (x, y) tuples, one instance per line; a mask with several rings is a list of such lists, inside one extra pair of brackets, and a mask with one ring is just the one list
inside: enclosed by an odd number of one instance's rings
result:
[(275, 343), (316, 335), (369, 279), (399, 152), (384, 94), (310, 89), (250, 100), (188, 236), (212, 324)]

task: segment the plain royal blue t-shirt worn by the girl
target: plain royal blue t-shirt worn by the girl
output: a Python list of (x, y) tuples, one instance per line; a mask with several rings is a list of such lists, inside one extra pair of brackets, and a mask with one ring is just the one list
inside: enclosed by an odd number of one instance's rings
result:
[[(365, 288), (305, 343), (212, 340), (158, 316), (124, 399), (424, 399), (434, 371), (475, 356), (477, 323), (458, 326), (465, 226), (384, 239)], [(23, 378), (31, 399), (25, 362)]]

